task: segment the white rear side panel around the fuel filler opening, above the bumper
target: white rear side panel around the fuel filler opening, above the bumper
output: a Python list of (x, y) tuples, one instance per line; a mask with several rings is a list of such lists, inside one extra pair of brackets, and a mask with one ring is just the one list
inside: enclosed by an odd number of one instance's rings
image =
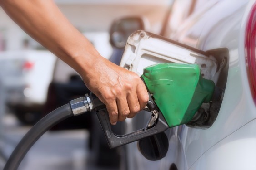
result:
[[(222, 18), (223, 15), (217, 15), (221, 17), (219, 17), (219, 19), (218, 17), (214, 17), (216, 19), (214, 20), (215, 22), (212, 22), (212, 20), (206, 21), (205, 25), (209, 27), (210, 24), (207, 23), (211, 23), (211, 26), (209, 28), (206, 28), (206, 26), (203, 27), (201, 35), (198, 38), (203, 41), (197, 42), (197, 49), (206, 51), (208, 49), (227, 47), (230, 52), (230, 63), (226, 91), (223, 98), (223, 103), (225, 104), (221, 105), (221, 110), (215, 123), (207, 130), (185, 127), (183, 130), (184, 133), (182, 132), (181, 141), (187, 157), (186, 161), (188, 167), (213, 145), (241, 126), (244, 126), (256, 116), (255, 106), (251, 99), (251, 92), (246, 92), (245, 90), (250, 89), (246, 70), (245, 67), (240, 67), (242, 65), (240, 63), (241, 60), (245, 61), (245, 53), (243, 53), (244, 45), (239, 44), (239, 42), (244, 42), (244, 36), (241, 36), (241, 34), (245, 34), (245, 26), (242, 24), (246, 23), (243, 21), (246, 17), (243, 16), (248, 15), (250, 10), (248, 8), (251, 6), (251, 4), (249, 4), (249, 7), (246, 8), (245, 3), (246, 1), (240, 1), (240, 4), (235, 3), (235, 5), (233, 5), (234, 8), (231, 8), (231, 12), (229, 12), (224, 19)], [(221, 6), (218, 7), (217, 5)], [(230, 4), (223, 1), (217, 3), (212, 10), (223, 9), (226, 11), (225, 7), (230, 7)], [(209, 10), (206, 12), (206, 17), (207, 13), (210, 13), (208, 14), (209, 16), (214, 14), (214, 12)], [(197, 21), (197, 23), (200, 23), (200, 21), (201, 20)], [(183, 41), (184, 39), (179, 40), (179, 42)], [(239, 50), (242, 50), (242, 52), (239, 53)], [(241, 72), (243, 72), (243, 74)], [(241, 113), (246, 113), (246, 116)]]

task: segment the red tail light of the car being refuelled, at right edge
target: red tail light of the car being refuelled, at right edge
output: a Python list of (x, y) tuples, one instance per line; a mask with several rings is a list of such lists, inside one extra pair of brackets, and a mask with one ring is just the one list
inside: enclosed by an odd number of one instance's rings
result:
[(256, 105), (256, 3), (254, 3), (246, 25), (246, 66), (251, 93)]

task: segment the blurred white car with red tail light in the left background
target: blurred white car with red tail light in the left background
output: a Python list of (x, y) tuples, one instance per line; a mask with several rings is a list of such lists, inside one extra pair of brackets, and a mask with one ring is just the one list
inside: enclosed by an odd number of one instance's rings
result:
[(55, 61), (54, 54), (43, 50), (0, 52), (5, 103), (23, 123), (41, 116)]

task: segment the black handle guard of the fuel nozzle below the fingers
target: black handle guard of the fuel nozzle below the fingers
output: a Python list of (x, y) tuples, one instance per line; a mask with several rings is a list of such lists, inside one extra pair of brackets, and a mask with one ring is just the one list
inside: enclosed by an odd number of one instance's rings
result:
[(100, 124), (102, 126), (102, 129), (104, 131), (105, 137), (108, 141), (110, 148), (115, 148), (117, 146), (122, 146), (134, 141), (138, 141), (142, 138), (152, 136), (154, 134), (166, 131), (166, 129), (168, 129), (168, 125), (164, 117), (160, 113), (158, 121), (156, 122), (155, 126), (152, 126), (151, 128), (143, 128), (141, 130), (133, 131), (125, 135), (116, 135), (111, 130), (109, 115), (106, 108), (102, 108), (98, 110), (98, 112), (96, 113), (100, 120)]

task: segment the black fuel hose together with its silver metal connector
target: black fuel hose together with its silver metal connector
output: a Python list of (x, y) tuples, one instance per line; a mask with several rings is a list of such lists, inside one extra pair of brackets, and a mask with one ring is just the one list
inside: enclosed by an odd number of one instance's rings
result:
[(80, 115), (85, 112), (91, 112), (94, 108), (95, 107), (90, 99), (90, 96), (86, 94), (85, 97), (72, 100), (70, 103), (50, 112), (25, 134), (10, 155), (3, 170), (17, 170), (26, 153), (51, 127), (69, 117)]

